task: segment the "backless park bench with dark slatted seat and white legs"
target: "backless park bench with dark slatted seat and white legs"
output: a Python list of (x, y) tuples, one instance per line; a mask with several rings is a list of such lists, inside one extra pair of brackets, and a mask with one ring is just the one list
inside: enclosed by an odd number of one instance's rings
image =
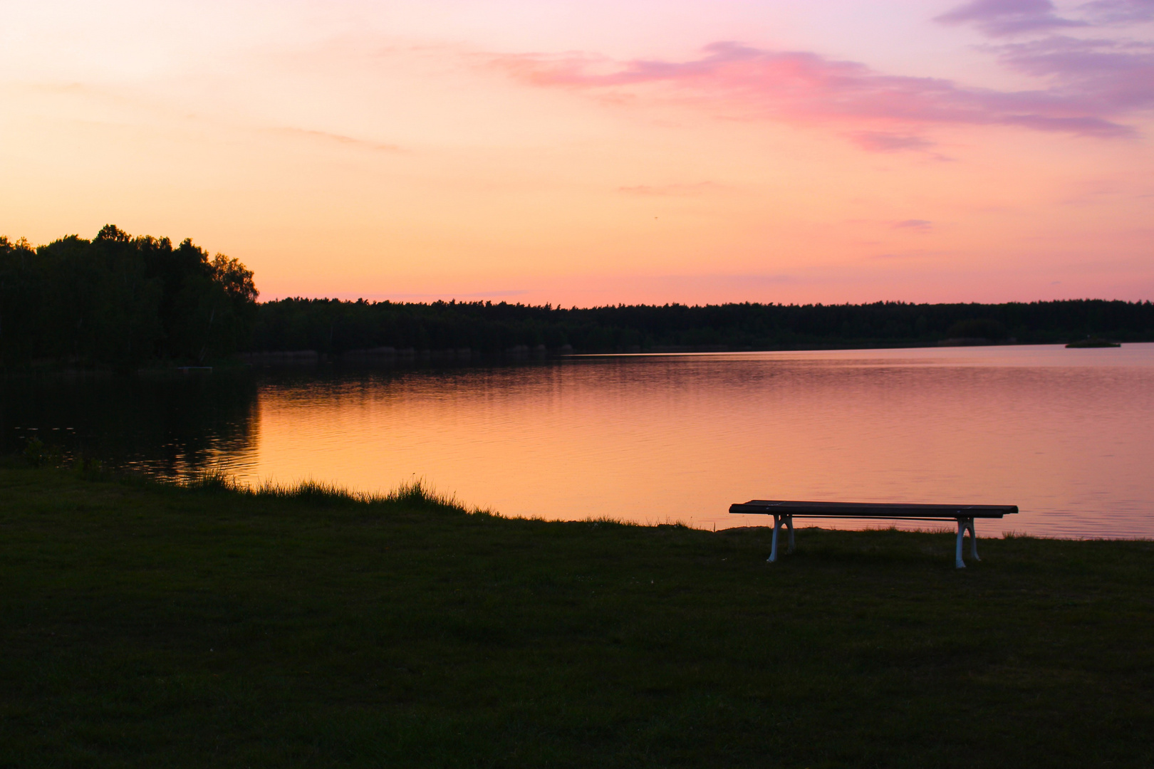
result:
[(965, 568), (961, 559), (961, 540), (969, 531), (969, 548), (974, 560), (977, 557), (977, 535), (974, 533), (975, 518), (1002, 518), (1018, 512), (1017, 505), (908, 505), (872, 502), (777, 502), (751, 499), (744, 504), (729, 505), (730, 513), (760, 513), (773, 515), (773, 544), (770, 563), (778, 559), (778, 531), (782, 526), (789, 529), (789, 552), (794, 549), (793, 519), (796, 518), (872, 518), (905, 521), (958, 521), (958, 568)]

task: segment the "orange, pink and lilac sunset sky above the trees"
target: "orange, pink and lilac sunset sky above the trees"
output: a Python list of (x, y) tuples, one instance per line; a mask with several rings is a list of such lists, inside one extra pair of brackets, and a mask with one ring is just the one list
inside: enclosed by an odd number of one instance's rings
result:
[(8, 0), (0, 234), (262, 299), (1154, 299), (1154, 0)]

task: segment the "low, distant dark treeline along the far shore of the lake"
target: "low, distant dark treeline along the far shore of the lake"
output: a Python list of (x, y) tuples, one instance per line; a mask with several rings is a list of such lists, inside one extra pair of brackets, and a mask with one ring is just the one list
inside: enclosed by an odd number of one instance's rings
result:
[[(328, 355), (470, 348), (643, 352), (1059, 342), (1087, 336), (1154, 340), (1154, 304), (1069, 300), (1005, 304), (684, 304), (591, 309), (492, 302), (284, 299), (260, 306), (254, 350)], [(527, 349), (526, 349), (527, 348)]]

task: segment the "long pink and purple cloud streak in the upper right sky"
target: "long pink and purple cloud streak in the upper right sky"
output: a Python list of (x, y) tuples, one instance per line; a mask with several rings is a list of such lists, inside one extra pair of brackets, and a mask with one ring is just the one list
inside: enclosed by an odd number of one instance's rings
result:
[(1125, 136), (1116, 118), (1151, 104), (1154, 78), (1145, 48), (1102, 58), (1088, 48), (1057, 51), (1005, 46), (1003, 60), (1047, 76), (1033, 91), (967, 88), (935, 77), (885, 75), (865, 65), (816, 53), (714, 43), (689, 61), (593, 56), (505, 55), (495, 59), (517, 78), (542, 88), (691, 104), (726, 116), (760, 118), (840, 128), (867, 150), (926, 150), (931, 126), (1018, 126), (1084, 136)]

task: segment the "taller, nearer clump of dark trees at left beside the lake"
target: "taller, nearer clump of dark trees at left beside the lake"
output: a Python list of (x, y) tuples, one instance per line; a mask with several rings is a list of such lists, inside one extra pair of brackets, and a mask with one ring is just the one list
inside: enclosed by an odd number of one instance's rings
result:
[(195, 363), (248, 347), (253, 273), (186, 240), (108, 225), (32, 248), (0, 238), (0, 360), (136, 365)]

